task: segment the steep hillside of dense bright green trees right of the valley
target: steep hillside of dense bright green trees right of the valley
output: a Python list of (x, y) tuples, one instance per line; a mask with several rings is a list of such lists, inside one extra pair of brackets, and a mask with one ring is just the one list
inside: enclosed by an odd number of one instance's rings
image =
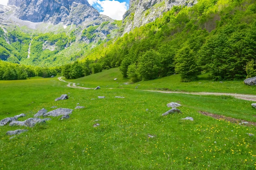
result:
[(173, 7), (155, 22), (97, 46), (85, 58), (98, 57), (102, 69), (120, 66), (133, 82), (174, 73), (184, 82), (203, 73), (214, 80), (252, 77), (255, 18), (255, 0), (199, 0), (191, 8)]

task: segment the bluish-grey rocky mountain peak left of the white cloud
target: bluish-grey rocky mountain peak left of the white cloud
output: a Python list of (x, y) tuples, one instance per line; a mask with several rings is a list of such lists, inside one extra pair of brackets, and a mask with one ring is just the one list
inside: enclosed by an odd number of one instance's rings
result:
[(17, 7), (17, 18), (30, 22), (81, 24), (100, 15), (87, 0), (9, 0), (8, 5)]

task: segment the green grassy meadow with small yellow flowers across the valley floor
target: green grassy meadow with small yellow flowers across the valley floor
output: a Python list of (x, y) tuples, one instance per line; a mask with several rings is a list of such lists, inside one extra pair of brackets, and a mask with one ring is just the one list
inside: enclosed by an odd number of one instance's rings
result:
[[(256, 122), (256, 109), (251, 106), (254, 102), (229, 96), (145, 91), (256, 94), (256, 87), (246, 86), (242, 81), (212, 82), (204, 76), (190, 83), (179, 80), (179, 75), (172, 75), (126, 85), (130, 80), (114, 68), (68, 80), (84, 87), (101, 86), (99, 90), (69, 88), (57, 77), (0, 81), (0, 119), (25, 113), (26, 117), (19, 119), (25, 120), (41, 108), (54, 110), (52, 106), (70, 109), (77, 103), (85, 106), (74, 109), (70, 119), (51, 117), (46, 124), (33, 128), (0, 126), (0, 169), (256, 169), (255, 126), (213, 119), (198, 112)], [(55, 102), (62, 94), (68, 94), (69, 99)], [(179, 102), (182, 113), (161, 116), (170, 109), (166, 106), (170, 102)], [(188, 116), (194, 121), (182, 120)], [(97, 119), (100, 126), (93, 128)], [(16, 129), (29, 131), (13, 139), (5, 135), (8, 130)], [(249, 136), (250, 133), (254, 136)]]

